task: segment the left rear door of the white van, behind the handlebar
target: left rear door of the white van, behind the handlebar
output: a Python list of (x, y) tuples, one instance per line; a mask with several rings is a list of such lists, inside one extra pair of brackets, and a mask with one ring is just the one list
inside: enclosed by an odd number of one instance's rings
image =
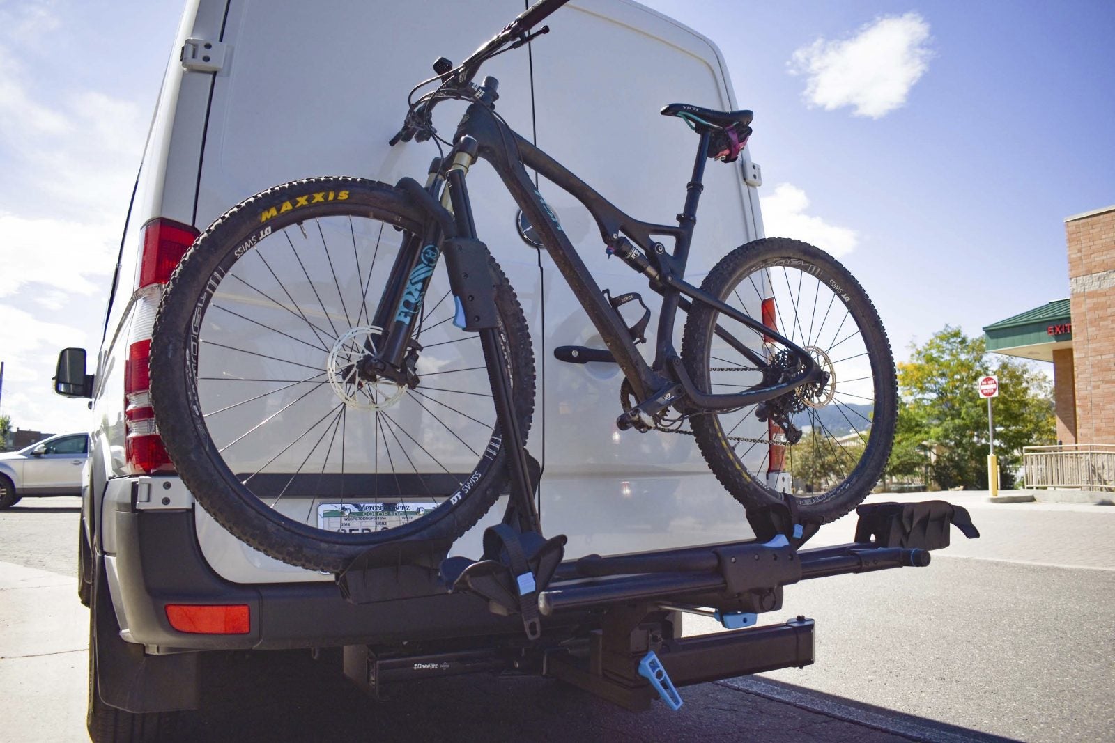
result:
[[(387, 146), (403, 123), (407, 94), (433, 75), (435, 59), (464, 59), (524, 7), (522, 0), (232, 0), (223, 37), (224, 63), (213, 86), (196, 224), (207, 225), (244, 198), (298, 178), (351, 175), (388, 184), (404, 176), (421, 180), (438, 154), (435, 144)], [(501, 116), (530, 136), (534, 121), (526, 50), (497, 57), (485, 65), (483, 75), (500, 80)], [(459, 101), (438, 107), (435, 126), (442, 136), (452, 137), (464, 109)], [(473, 168), (468, 185), (479, 237), (515, 287), (539, 348), (537, 253), (518, 238), (517, 207), (491, 168), (483, 164)], [(316, 276), (314, 266), (309, 272)], [(332, 278), (322, 284), (322, 291), (326, 286), (332, 286)], [(369, 302), (379, 289), (370, 287)], [(440, 311), (446, 307), (450, 305)], [(539, 378), (534, 426), (540, 432), (541, 370)], [(541, 453), (540, 446), (535, 456), (541, 458)], [(234, 542), (206, 514), (200, 509), (197, 514), (202, 547), (224, 577), (243, 583), (312, 577), (262, 559)], [(474, 551), (479, 551), (478, 539)]]

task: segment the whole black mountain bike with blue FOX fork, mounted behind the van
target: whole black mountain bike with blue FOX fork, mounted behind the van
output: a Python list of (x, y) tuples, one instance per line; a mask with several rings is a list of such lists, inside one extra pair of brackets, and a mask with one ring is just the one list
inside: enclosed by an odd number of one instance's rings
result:
[[(661, 109), (697, 135), (683, 207), (666, 225), (629, 216), (515, 134), (496, 113), (497, 81), (474, 81), (485, 60), (546, 33), (534, 29), (563, 2), (533, 6), (460, 65), (439, 59), (415, 88), (392, 146), (439, 141), (435, 107), (468, 102), (424, 184), (275, 186), (221, 216), (175, 270), (151, 349), (158, 432), (197, 501), (256, 549), (338, 573), (377, 545), (452, 540), (508, 488), (523, 528), (539, 530), (525, 449), (535, 360), (515, 292), (476, 234), (466, 183), (477, 159), (607, 346), (559, 358), (622, 371), (619, 430), (692, 436), (748, 512), (788, 504), (821, 524), (879, 479), (894, 364), (855, 278), (816, 247), (766, 238), (729, 252), (700, 286), (685, 280), (706, 164), (738, 158), (752, 111)], [(597, 285), (529, 168), (583, 204), (609, 255), (661, 296), (651, 363), (637, 348), (650, 311)], [(644, 312), (629, 323), (621, 307), (630, 315), (636, 300)]]

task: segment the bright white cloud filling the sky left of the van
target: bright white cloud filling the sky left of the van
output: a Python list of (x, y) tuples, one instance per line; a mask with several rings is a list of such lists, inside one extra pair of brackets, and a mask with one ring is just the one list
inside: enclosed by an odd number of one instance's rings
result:
[(96, 353), (147, 125), (109, 95), (112, 79), (90, 88), (43, 76), (59, 45), (85, 38), (68, 11), (0, 7), (0, 402), (14, 426), (56, 432), (88, 419), (50, 378), (59, 349)]

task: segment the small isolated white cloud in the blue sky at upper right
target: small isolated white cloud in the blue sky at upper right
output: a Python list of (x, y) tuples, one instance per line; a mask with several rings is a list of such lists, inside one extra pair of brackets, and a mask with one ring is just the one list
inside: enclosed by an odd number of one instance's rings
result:
[(818, 38), (794, 52), (793, 75), (805, 75), (805, 99), (833, 110), (880, 118), (905, 105), (910, 88), (929, 69), (929, 23), (920, 14), (888, 16), (849, 39)]

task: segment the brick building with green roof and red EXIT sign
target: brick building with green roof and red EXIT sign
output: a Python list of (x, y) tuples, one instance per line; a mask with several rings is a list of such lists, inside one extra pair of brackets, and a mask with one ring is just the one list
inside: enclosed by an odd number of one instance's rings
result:
[(987, 325), (987, 349), (1053, 362), (1061, 443), (1115, 443), (1115, 206), (1065, 233), (1069, 297)]

